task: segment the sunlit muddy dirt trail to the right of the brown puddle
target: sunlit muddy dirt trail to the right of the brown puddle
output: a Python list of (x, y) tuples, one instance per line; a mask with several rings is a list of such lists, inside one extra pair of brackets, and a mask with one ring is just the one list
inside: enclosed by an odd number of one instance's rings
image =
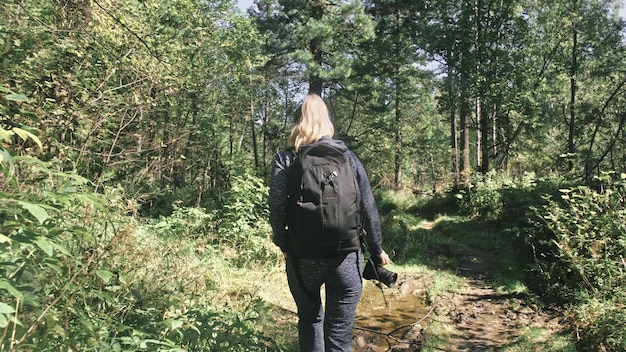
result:
[[(433, 229), (433, 224), (423, 223), (424, 229)], [(445, 236), (440, 232), (433, 235)], [(452, 255), (446, 248), (433, 249), (435, 255)], [(458, 256), (458, 251), (457, 256)], [(464, 247), (459, 259), (456, 274), (462, 280), (462, 286), (455, 292), (435, 297), (432, 307), (427, 309), (429, 316), (424, 316), (420, 324), (413, 324), (402, 337), (388, 337), (386, 347), (379, 344), (357, 344), (356, 352), (371, 351), (420, 351), (428, 346), (440, 351), (518, 351), (513, 347), (525, 333), (536, 330), (531, 350), (542, 350), (543, 337), (556, 334), (561, 326), (555, 312), (542, 309), (527, 296), (501, 293), (491, 285), (489, 254), (475, 248)], [(417, 280), (420, 280), (419, 278)], [(402, 286), (415, 286), (411, 277), (399, 280)], [(421, 279), (419, 284), (427, 284)], [(428, 308), (428, 307), (427, 307)], [(431, 314), (432, 313), (432, 314)], [(439, 336), (429, 336), (422, 326), (429, 324), (429, 319), (437, 319), (442, 325), (438, 328)], [(357, 333), (357, 342), (364, 340), (362, 333)], [(434, 343), (435, 340), (445, 341)], [(430, 342), (429, 342), (430, 341)], [(439, 347), (434, 347), (438, 345)]]

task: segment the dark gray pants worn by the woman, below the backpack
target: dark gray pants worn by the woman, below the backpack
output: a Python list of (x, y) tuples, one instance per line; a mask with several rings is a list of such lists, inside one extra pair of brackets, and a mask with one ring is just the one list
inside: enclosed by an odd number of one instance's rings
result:
[[(298, 258), (295, 263), (288, 256), (287, 280), (298, 306), (300, 351), (352, 351), (352, 327), (363, 289), (360, 253), (335, 259)], [(320, 299), (322, 284), (326, 312)]]

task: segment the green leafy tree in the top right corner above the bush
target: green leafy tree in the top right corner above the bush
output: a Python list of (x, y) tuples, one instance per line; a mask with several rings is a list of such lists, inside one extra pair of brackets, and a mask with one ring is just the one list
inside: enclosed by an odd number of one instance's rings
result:
[(542, 65), (537, 65), (542, 68), (534, 98), (542, 107), (537, 113), (550, 127), (564, 131), (544, 132), (548, 138), (555, 138), (548, 133), (557, 136), (554, 145), (560, 148), (552, 155), (559, 156), (559, 168), (589, 182), (601, 169), (619, 167), (603, 161), (623, 150), (615, 131), (621, 129), (625, 103), (620, 94), (624, 92), (620, 71), (626, 66), (624, 22), (617, 16), (616, 1), (544, 5), (531, 2), (528, 7), (537, 38), (529, 45), (530, 57), (543, 57)]

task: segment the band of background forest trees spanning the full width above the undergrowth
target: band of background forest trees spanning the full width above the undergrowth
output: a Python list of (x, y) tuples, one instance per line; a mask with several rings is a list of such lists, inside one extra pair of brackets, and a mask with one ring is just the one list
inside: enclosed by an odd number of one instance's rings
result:
[(8, 1), (2, 126), (40, 132), (13, 154), (200, 204), (267, 175), (311, 91), (366, 162), (386, 160), (368, 164), (383, 187), (474, 170), (588, 183), (626, 162), (619, 5)]

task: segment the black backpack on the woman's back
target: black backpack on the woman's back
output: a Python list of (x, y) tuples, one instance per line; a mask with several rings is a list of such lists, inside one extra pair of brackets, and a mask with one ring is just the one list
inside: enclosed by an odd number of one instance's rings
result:
[(289, 167), (289, 242), (300, 258), (359, 249), (361, 193), (350, 158), (328, 143), (301, 148)]

